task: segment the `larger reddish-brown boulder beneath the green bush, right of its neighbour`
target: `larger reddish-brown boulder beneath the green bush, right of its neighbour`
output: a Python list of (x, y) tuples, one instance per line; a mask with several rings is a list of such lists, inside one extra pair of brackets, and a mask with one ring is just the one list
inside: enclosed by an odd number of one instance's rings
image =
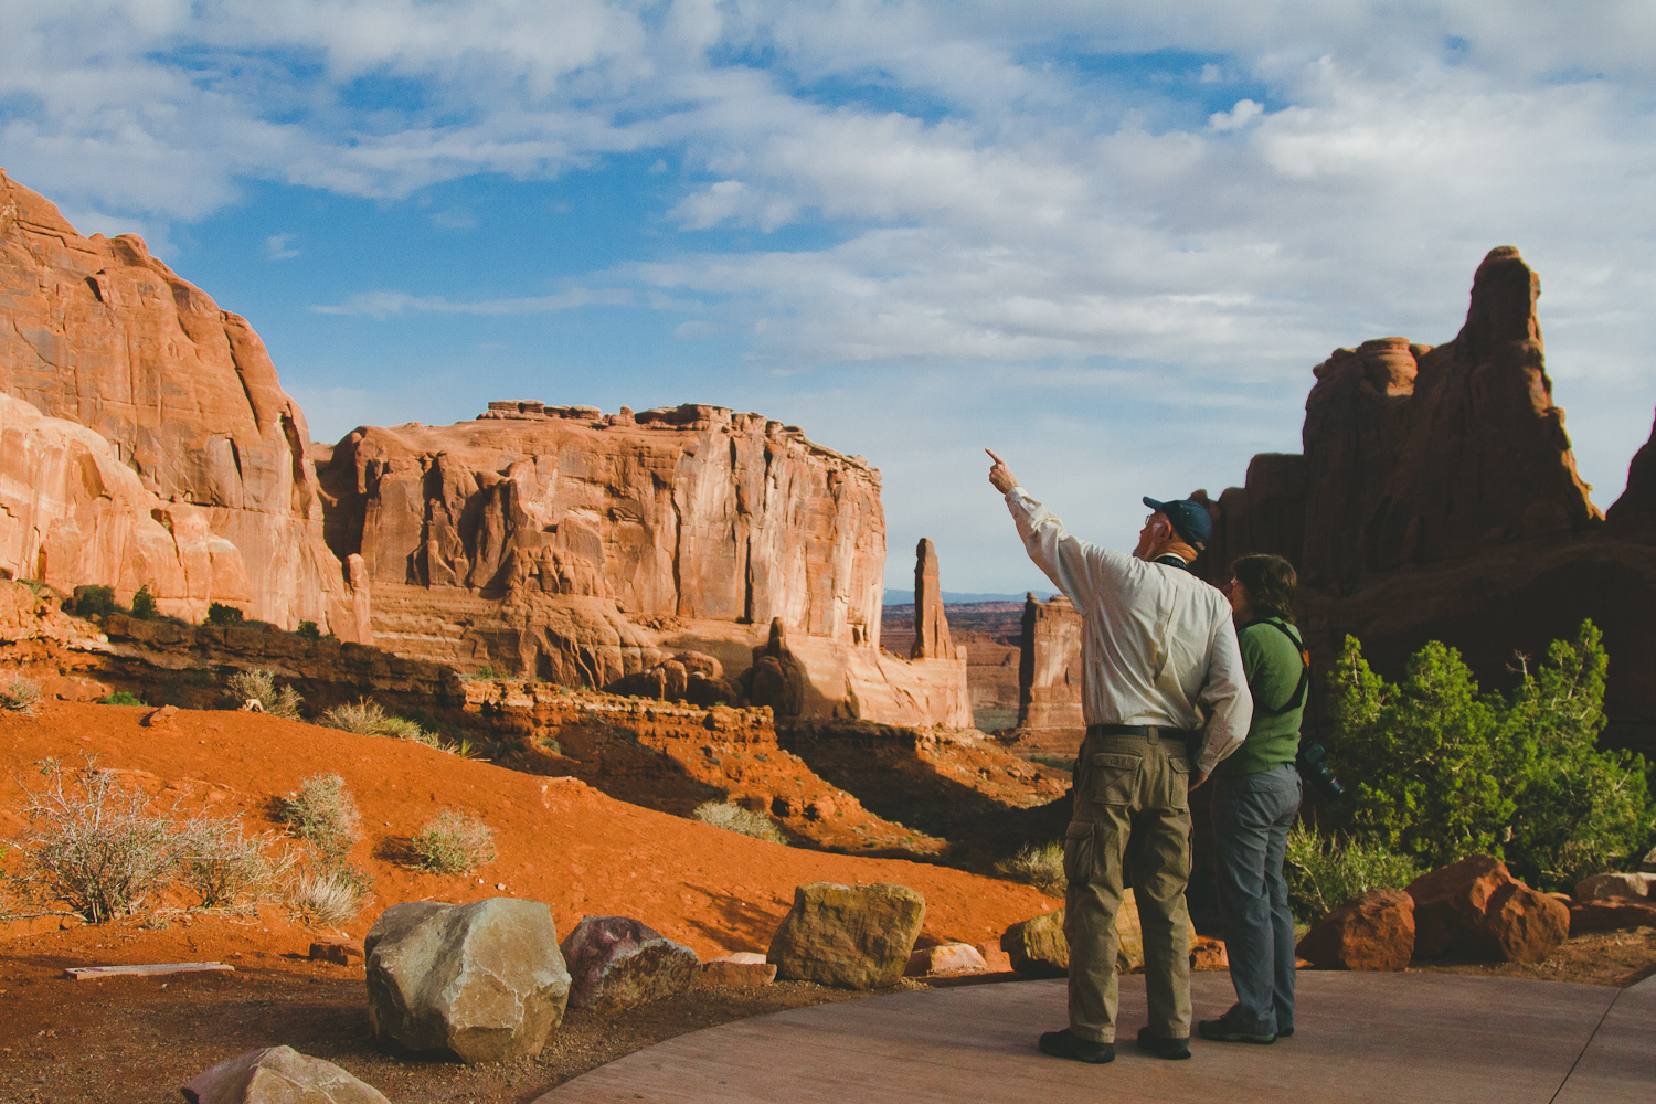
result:
[(1475, 854), (1423, 874), (1414, 899), (1414, 953), (1540, 962), (1570, 937), (1570, 909), (1512, 877), (1505, 864)]

